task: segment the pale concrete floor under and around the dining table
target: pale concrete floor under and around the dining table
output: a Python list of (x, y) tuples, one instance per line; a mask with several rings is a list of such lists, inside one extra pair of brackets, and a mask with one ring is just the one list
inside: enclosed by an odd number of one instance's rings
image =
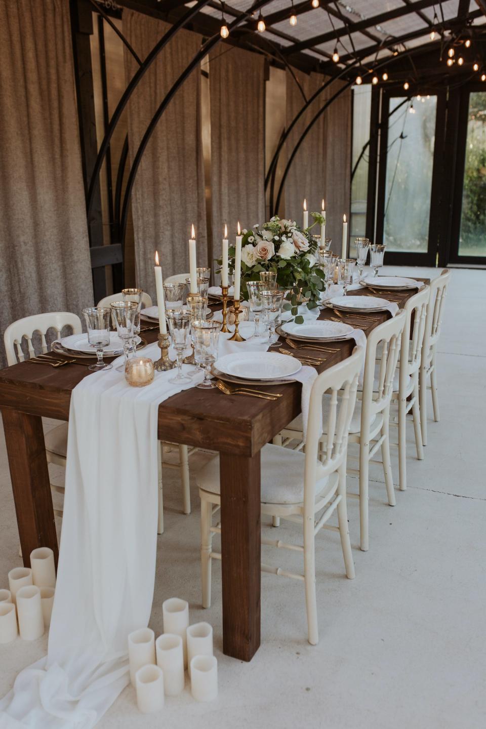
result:
[[(387, 268), (383, 273), (391, 273)], [(434, 276), (433, 269), (399, 273)], [(358, 547), (358, 502), (350, 499), (356, 580), (346, 580), (337, 534), (316, 542), (320, 642), (306, 639), (300, 582), (262, 574), (262, 645), (251, 663), (222, 654), (221, 569), (213, 566), (213, 607), (200, 607), (199, 504), (181, 514), (176, 471), (165, 472), (165, 534), (159, 538), (150, 625), (162, 631), (162, 601), (187, 599), (192, 622), (214, 628), (219, 698), (166, 699), (161, 714), (138, 714), (125, 689), (103, 729), (476, 729), (486, 725), (485, 425), (486, 272), (454, 270), (439, 343), (441, 421), (431, 422), (425, 461), (408, 427), (408, 490), (385, 504), (383, 472), (372, 467), (370, 547)], [(208, 456), (192, 457), (192, 475)], [(397, 483), (396, 449), (392, 451)], [(62, 477), (62, 474), (57, 474)], [(356, 491), (356, 480), (348, 479)], [(269, 531), (270, 528), (268, 528)], [(279, 536), (297, 536), (281, 526)], [(275, 530), (273, 530), (275, 538)], [(4, 440), (0, 439), (0, 588), (21, 564)], [(274, 555), (268, 555), (269, 561)], [(299, 565), (278, 553), (277, 564)], [(274, 559), (275, 561), (275, 559)], [(0, 646), (0, 695), (44, 655), (47, 637)]]

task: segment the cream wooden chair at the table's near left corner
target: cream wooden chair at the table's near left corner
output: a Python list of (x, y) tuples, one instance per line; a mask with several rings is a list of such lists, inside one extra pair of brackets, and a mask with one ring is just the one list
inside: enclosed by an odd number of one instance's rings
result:
[[(52, 311), (49, 313), (34, 314), (34, 316), (26, 316), (24, 319), (9, 324), (4, 332), (4, 345), (7, 353), (7, 364), (16, 364), (26, 359), (22, 345), (27, 348), (28, 358), (36, 355), (36, 346), (42, 353), (49, 351), (47, 335), (49, 332), (55, 333), (55, 338), (59, 339), (61, 332), (67, 335), (66, 328), (70, 329), (72, 334), (81, 334), (82, 325), (79, 316), (68, 311)], [(36, 335), (40, 342), (36, 341)], [(39, 354), (39, 351), (37, 352)], [(44, 443), (46, 448), (47, 463), (56, 466), (66, 467), (66, 452), (68, 448), (68, 424), (61, 423), (52, 428), (44, 435)], [(64, 493), (63, 486), (56, 486), (51, 483), (53, 491)], [(56, 516), (62, 517), (63, 511), (55, 509)]]

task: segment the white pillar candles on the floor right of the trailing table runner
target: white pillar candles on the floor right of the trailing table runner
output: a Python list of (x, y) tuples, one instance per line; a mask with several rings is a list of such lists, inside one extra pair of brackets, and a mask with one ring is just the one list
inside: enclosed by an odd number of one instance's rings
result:
[(211, 625), (189, 625), (189, 604), (179, 598), (165, 600), (162, 615), (164, 632), (157, 640), (151, 628), (128, 636), (130, 682), (136, 690), (138, 710), (144, 714), (162, 709), (165, 696), (182, 693), (186, 668), (196, 701), (213, 701), (218, 695)]

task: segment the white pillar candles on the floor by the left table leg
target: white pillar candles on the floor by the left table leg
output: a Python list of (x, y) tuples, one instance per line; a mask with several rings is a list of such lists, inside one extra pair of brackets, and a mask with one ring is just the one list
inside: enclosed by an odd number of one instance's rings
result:
[(0, 590), (0, 643), (19, 633), (23, 640), (40, 638), (50, 625), (54, 590), (54, 553), (49, 547), (34, 549), (31, 567), (11, 569), (9, 589)]

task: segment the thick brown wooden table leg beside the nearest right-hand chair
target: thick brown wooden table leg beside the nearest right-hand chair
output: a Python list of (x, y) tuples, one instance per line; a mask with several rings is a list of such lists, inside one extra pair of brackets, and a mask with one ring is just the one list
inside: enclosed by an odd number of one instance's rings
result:
[(251, 660), (260, 644), (260, 454), (220, 453), (223, 651)]

